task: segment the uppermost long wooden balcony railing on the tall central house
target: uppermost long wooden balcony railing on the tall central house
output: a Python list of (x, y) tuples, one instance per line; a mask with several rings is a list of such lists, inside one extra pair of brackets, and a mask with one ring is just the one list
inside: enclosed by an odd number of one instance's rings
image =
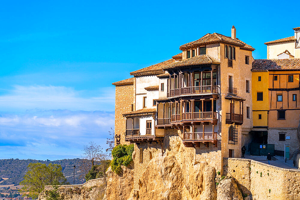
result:
[[(181, 88), (181, 94), (205, 94), (205, 93), (220, 93), (220, 88), (217, 85), (202, 85), (193, 87)], [(168, 92), (168, 97), (179, 96), (179, 89), (172, 89)]]

